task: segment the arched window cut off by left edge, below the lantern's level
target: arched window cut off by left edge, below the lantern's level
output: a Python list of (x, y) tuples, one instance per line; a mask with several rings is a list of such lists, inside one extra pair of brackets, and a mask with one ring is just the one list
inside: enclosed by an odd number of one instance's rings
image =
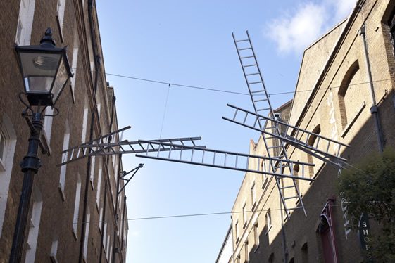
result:
[(8, 191), (15, 153), (16, 134), (11, 119), (6, 115), (0, 119), (0, 236), (8, 200)]

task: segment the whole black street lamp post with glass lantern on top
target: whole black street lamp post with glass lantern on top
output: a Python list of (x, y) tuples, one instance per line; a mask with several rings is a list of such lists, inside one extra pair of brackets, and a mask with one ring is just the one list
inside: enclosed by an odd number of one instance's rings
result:
[[(56, 48), (51, 28), (46, 30), (38, 46), (15, 46), (15, 51), (18, 54), (25, 87), (25, 92), (19, 95), (20, 101), (26, 106), (22, 116), (29, 125), (30, 138), (27, 154), (20, 162), (24, 176), (9, 261), (12, 263), (22, 260), (33, 180), (41, 167), (37, 153), (39, 146), (42, 147), (40, 135), (43, 127), (43, 113), (47, 106), (54, 108), (65, 84), (73, 76), (66, 55), (66, 47)], [(27, 97), (27, 102), (23, 100), (23, 96)], [(58, 109), (55, 115), (57, 114)]]

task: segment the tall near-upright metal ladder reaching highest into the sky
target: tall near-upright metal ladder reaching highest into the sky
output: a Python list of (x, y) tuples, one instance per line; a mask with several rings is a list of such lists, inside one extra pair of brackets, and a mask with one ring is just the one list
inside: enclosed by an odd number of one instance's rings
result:
[[(251, 96), (251, 101), (253, 103), (253, 109), (255, 113), (258, 115), (269, 115), (274, 118), (275, 114), (272, 110), (272, 105), (270, 104), (268, 92), (265, 88), (265, 83), (263, 82), (263, 77), (261, 75), (261, 70), (258, 65), (258, 60), (256, 60), (256, 55), (253, 51), (249, 32), (246, 31), (246, 39), (237, 40), (234, 37), (233, 33), (232, 37), (234, 40), (234, 45), (236, 46), (237, 55), (239, 56), (240, 64), (242, 65), (244, 78), (246, 79), (246, 84), (249, 89), (249, 94)], [(261, 130), (272, 129), (272, 131), (274, 131), (272, 132), (272, 134), (280, 135), (280, 129), (277, 124), (272, 123), (271, 120), (266, 120), (265, 124), (263, 124), (261, 121), (261, 118), (256, 119), (256, 122), (258, 123), (258, 126)], [(268, 127), (267, 125), (270, 126)], [(270, 136), (264, 132), (262, 132), (262, 137), (269, 158), (272, 158), (273, 156), (281, 160), (289, 160), (287, 151), (284, 146), (284, 141), (275, 138), (275, 136)], [(280, 169), (280, 173), (284, 172), (285, 169), (288, 169), (292, 177), (294, 177), (294, 167), (290, 162), (284, 162), (284, 164), (282, 165), (275, 165), (273, 163), (270, 163), (270, 168), (272, 169), (272, 172), (274, 174), (279, 173), (277, 172), (278, 169)], [(302, 174), (302, 177), (304, 177), (304, 174)], [(278, 191), (280, 193), (284, 212), (287, 215), (287, 219), (289, 219), (289, 214), (291, 210), (296, 209), (302, 209), (305, 216), (307, 217), (306, 209), (303, 205), (303, 200), (301, 198), (301, 193), (295, 180), (297, 179), (291, 178), (290, 180), (283, 180), (283, 177), (275, 176), (275, 181)], [(287, 183), (289, 184), (284, 185), (284, 181), (287, 181)], [(294, 189), (294, 191), (292, 191), (291, 189)], [(286, 197), (284, 196), (286, 191), (287, 193), (291, 191), (294, 194)], [(295, 205), (291, 206), (291, 203), (287, 202), (287, 200), (295, 200)]]

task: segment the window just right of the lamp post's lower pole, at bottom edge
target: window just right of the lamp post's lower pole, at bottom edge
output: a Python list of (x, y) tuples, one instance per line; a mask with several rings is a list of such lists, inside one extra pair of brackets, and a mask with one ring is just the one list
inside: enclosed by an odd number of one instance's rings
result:
[(39, 226), (42, 211), (42, 195), (37, 187), (33, 189), (33, 208), (32, 217), (30, 217), (29, 236), (27, 236), (27, 250), (25, 262), (35, 262), (37, 238), (39, 237)]

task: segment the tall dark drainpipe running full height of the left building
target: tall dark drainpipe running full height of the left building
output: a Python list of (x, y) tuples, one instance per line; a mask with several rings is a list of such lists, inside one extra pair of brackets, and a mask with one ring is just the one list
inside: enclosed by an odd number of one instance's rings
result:
[[(93, 20), (92, 20), (92, 8), (93, 8), (93, 3), (92, 0), (88, 1), (88, 17), (89, 17), (89, 25), (90, 25), (90, 31), (91, 31), (91, 38), (92, 38), (92, 47), (93, 47), (93, 53), (94, 53), (94, 66), (96, 69), (95, 72), (95, 79), (94, 79), (94, 98), (96, 101), (96, 93), (97, 93), (97, 82), (99, 79), (99, 64), (100, 64), (100, 57), (96, 55), (96, 39), (94, 37), (94, 26), (93, 26)], [(92, 75), (91, 75), (92, 76)], [(92, 111), (92, 117), (91, 117), (91, 127), (89, 131), (89, 141), (92, 141), (93, 135), (94, 135), (94, 117), (95, 117), (95, 111), (97, 108)], [(98, 120), (99, 121), (99, 120)], [(85, 240), (85, 226), (87, 224), (87, 206), (88, 206), (88, 193), (89, 193), (89, 175), (91, 172), (91, 156), (88, 157), (88, 163), (87, 163), (87, 177), (85, 179), (85, 189), (84, 189), (84, 208), (82, 210), (82, 227), (81, 227), (81, 238), (80, 238), (80, 255), (78, 256), (78, 262), (82, 262), (82, 255), (84, 252), (84, 240)]]

